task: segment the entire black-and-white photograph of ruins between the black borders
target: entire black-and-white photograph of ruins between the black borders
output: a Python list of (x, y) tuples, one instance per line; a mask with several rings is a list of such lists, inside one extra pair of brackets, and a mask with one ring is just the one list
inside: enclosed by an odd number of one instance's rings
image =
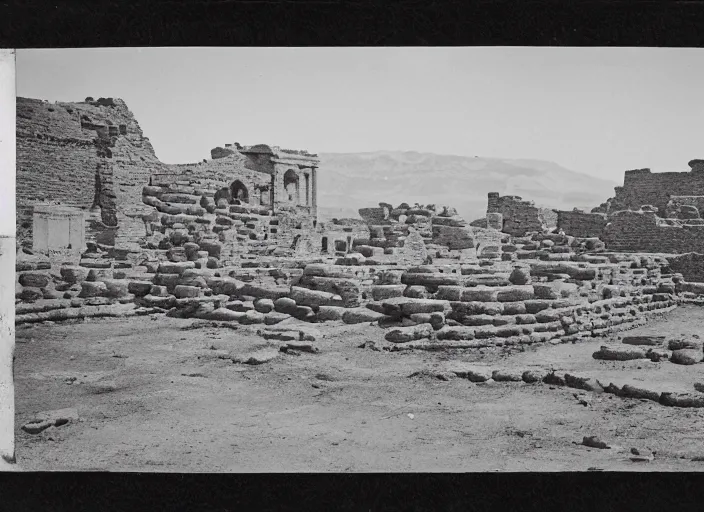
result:
[(2, 56), (3, 470), (704, 470), (704, 50)]

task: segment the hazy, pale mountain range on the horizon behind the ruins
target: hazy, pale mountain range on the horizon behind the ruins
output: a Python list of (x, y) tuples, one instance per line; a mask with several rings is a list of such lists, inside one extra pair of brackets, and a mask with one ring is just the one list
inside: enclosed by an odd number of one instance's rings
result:
[(587, 211), (614, 194), (618, 183), (542, 160), (509, 160), (417, 153), (320, 153), (321, 220), (358, 217), (380, 202), (453, 206), (466, 220), (484, 217), (487, 194), (517, 195), (536, 206)]

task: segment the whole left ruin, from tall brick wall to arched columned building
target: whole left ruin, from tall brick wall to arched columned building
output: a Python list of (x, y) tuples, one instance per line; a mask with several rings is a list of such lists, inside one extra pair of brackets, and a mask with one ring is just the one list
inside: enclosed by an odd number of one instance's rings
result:
[[(270, 243), (290, 247), (296, 236), (315, 231), (315, 155), (235, 143), (211, 156), (194, 164), (160, 162), (120, 99), (17, 98), (18, 246), (59, 257), (75, 255), (86, 242), (137, 251), (154, 224), (163, 231), (168, 212), (207, 215), (229, 206), (240, 214), (278, 214), (267, 227)], [(145, 193), (149, 187), (158, 192)], [(191, 194), (179, 196), (179, 188)]]

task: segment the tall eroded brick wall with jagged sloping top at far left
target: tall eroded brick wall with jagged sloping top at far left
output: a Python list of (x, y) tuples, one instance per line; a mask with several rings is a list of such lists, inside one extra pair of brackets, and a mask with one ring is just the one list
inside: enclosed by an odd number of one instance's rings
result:
[(17, 98), (18, 243), (31, 244), (31, 207), (46, 202), (83, 210), (99, 206), (98, 224), (117, 222), (117, 238), (136, 241), (144, 234), (140, 216), (148, 212), (142, 187), (161, 168), (122, 100)]

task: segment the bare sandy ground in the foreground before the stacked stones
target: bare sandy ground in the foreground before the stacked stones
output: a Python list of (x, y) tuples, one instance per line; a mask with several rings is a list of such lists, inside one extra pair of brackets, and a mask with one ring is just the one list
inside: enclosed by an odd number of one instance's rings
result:
[[(409, 377), (452, 361), (549, 367), (693, 391), (704, 364), (596, 361), (606, 340), (457, 352), (360, 348), (369, 325), (315, 326), (320, 353), (257, 366), (219, 359), (268, 343), (250, 329), (183, 329), (164, 317), (17, 330), (17, 467), (179, 472), (700, 471), (704, 409), (546, 384)], [(704, 308), (681, 307), (628, 334), (703, 334)], [(276, 343), (279, 346), (281, 343)], [(71, 382), (74, 383), (71, 383)], [(37, 435), (40, 411), (80, 420)], [(411, 416), (409, 416), (409, 414)], [(581, 445), (596, 435), (611, 449)], [(630, 448), (655, 451), (630, 460)]]

